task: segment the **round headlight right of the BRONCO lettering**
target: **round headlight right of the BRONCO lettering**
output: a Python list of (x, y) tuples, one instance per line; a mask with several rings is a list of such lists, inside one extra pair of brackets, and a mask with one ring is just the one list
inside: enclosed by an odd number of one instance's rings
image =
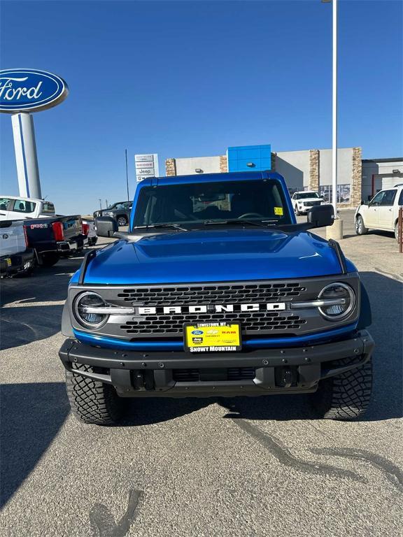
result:
[(322, 289), (319, 300), (323, 301), (323, 306), (318, 308), (323, 317), (339, 321), (354, 309), (355, 293), (349, 285), (336, 282)]

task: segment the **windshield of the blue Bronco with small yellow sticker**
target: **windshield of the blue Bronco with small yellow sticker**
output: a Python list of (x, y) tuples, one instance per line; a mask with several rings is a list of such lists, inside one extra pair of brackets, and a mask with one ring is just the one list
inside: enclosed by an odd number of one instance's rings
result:
[(291, 224), (283, 187), (277, 180), (200, 182), (143, 187), (134, 227), (249, 220)]

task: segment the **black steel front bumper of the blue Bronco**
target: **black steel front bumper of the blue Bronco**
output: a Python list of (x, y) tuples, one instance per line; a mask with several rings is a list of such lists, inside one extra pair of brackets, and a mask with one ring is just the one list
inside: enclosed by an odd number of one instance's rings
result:
[(59, 357), (67, 371), (111, 384), (121, 397), (253, 396), (315, 392), (319, 380), (365, 364), (373, 349), (372, 337), (362, 330), (323, 345), (198, 355), (122, 352), (69, 338)]

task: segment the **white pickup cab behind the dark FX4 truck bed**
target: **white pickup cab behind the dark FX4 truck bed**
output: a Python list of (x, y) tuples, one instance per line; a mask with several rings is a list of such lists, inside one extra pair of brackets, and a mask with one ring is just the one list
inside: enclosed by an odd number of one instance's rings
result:
[(0, 221), (55, 216), (51, 201), (20, 196), (0, 196)]

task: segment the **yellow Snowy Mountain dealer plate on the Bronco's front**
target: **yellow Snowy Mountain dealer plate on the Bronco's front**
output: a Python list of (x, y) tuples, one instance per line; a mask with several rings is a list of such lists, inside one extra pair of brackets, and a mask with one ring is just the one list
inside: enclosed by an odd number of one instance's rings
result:
[(241, 350), (241, 323), (199, 322), (183, 325), (184, 347), (189, 352)]

